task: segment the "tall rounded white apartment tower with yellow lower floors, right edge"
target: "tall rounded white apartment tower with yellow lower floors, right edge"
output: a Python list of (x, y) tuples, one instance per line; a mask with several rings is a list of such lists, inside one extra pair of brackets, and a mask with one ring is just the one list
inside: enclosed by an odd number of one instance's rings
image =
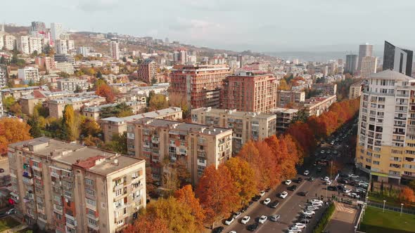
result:
[(356, 166), (373, 180), (415, 179), (415, 79), (371, 74), (360, 99)]

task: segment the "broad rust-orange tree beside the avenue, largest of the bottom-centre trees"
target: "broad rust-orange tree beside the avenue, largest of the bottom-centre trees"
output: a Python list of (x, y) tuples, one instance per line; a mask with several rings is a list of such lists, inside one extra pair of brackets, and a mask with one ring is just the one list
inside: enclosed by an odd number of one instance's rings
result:
[(199, 180), (196, 194), (206, 211), (206, 221), (214, 227), (215, 222), (236, 210), (239, 190), (234, 186), (231, 172), (224, 165), (208, 166)]

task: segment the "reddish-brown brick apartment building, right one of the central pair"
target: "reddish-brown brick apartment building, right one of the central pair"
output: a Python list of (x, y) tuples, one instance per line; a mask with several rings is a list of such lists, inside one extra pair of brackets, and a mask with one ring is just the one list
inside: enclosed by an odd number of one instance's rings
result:
[(226, 76), (220, 108), (244, 112), (269, 112), (276, 107), (278, 81), (264, 72), (239, 72)]

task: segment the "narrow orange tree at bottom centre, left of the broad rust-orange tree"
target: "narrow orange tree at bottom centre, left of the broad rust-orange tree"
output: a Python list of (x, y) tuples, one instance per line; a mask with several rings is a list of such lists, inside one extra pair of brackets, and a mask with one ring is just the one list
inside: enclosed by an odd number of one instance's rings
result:
[(196, 198), (195, 193), (191, 185), (186, 185), (174, 193), (177, 201), (181, 204), (189, 206), (191, 209), (191, 215), (196, 218), (196, 225), (198, 225), (198, 231), (201, 232), (203, 229), (203, 221), (205, 220), (205, 210), (200, 206), (200, 201)]

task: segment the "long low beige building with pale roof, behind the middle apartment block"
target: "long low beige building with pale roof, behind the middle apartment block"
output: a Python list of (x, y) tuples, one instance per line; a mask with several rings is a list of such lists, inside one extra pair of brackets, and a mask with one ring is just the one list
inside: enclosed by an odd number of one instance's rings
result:
[(180, 107), (168, 107), (166, 109), (160, 109), (153, 112), (146, 112), (143, 114), (136, 114), (126, 117), (108, 117), (99, 121), (101, 125), (104, 141), (109, 142), (113, 139), (113, 135), (119, 135), (127, 132), (127, 124), (129, 122), (141, 119), (141, 118), (155, 118), (155, 119), (170, 119), (177, 120), (182, 119), (182, 111)]

